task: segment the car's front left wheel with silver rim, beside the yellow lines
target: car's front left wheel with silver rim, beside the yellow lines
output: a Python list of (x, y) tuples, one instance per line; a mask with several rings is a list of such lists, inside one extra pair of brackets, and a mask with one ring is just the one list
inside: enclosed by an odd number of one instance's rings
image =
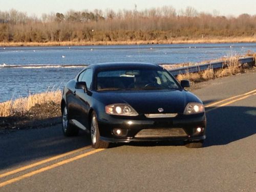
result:
[(99, 138), (99, 127), (98, 120), (95, 112), (92, 112), (91, 118), (91, 138), (92, 138), (92, 147), (93, 148), (108, 148), (109, 142), (102, 141)]

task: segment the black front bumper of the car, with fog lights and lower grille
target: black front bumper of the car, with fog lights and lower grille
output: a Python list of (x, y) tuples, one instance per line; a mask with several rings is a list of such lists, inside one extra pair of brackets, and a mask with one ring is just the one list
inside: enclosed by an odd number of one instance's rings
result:
[[(108, 142), (199, 141), (206, 138), (205, 114), (178, 115), (175, 118), (120, 117), (98, 119), (100, 139)], [(197, 131), (200, 127), (201, 132)], [(117, 135), (115, 130), (121, 130)], [(144, 133), (144, 134), (141, 134)]]

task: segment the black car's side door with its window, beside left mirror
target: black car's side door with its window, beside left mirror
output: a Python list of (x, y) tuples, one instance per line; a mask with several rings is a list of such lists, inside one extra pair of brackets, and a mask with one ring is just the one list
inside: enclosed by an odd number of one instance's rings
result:
[[(77, 100), (77, 121), (81, 123), (84, 127), (89, 129), (88, 123), (88, 113), (90, 110), (91, 103), (91, 94), (90, 90), (92, 89), (92, 78), (93, 78), (93, 70), (87, 69), (83, 71), (79, 76), (77, 81), (86, 82), (87, 88), (89, 90), (88, 93), (85, 93), (82, 89), (75, 89), (75, 95)], [(84, 128), (83, 127), (83, 128)]]

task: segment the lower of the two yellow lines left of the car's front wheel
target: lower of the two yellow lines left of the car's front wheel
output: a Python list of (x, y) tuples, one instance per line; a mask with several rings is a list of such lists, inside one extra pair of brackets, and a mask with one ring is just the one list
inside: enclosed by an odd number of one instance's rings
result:
[(25, 174), (25, 175), (22, 175), (22, 176), (19, 176), (19, 177), (15, 177), (15, 178), (13, 178), (13, 179), (10, 179), (10, 180), (7, 180), (7, 181), (5, 181), (5, 182), (0, 183), (0, 187), (3, 187), (3, 186), (5, 186), (5, 185), (14, 183), (14, 182), (16, 182), (16, 181), (19, 181), (19, 180), (22, 180), (22, 179), (31, 177), (31, 176), (33, 176), (33, 175), (36, 175), (36, 174), (45, 172), (46, 170), (49, 170), (49, 169), (58, 167), (58, 166), (60, 166), (60, 165), (70, 163), (70, 162), (75, 161), (75, 160), (77, 160), (77, 159), (81, 159), (81, 158), (83, 158), (83, 157), (86, 157), (86, 156), (95, 154), (95, 153), (100, 152), (100, 151), (102, 151), (102, 150), (104, 150), (104, 149), (99, 148), (99, 149), (97, 149), (97, 150), (93, 150), (93, 151), (90, 151), (90, 152), (87, 152), (87, 153), (84, 153), (84, 154), (81, 154), (81, 155), (78, 155), (78, 156), (75, 156), (75, 157), (72, 157), (72, 158), (69, 158), (69, 159), (66, 159), (66, 160), (57, 162), (57, 163), (54, 163), (54, 164), (52, 164), (52, 165), (49, 165), (49, 166), (46, 166), (46, 167), (43, 167), (43, 168), (34, 170), (33, 172), (30, 172), (30, 173), (27, 173), (27, 174)]

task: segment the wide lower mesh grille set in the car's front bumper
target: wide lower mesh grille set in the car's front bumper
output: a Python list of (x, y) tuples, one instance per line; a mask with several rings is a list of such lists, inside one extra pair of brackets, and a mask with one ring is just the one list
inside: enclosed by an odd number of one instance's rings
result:
[(181, 137), (187, 136), (182, 128), (143, 129), (135, 137)]

